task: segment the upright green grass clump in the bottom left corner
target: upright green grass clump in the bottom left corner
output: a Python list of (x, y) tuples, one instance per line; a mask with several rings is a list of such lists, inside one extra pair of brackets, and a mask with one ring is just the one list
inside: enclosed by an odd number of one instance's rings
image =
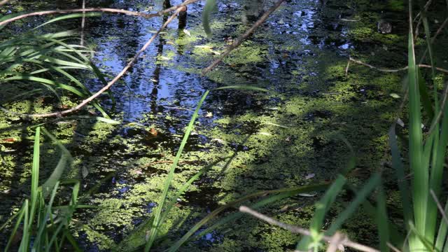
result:
[[(4, 251), (9, 251), (12, 241), (17, 239), (17, 236), (20, 236), (18, 230), (21, 230), (22, 233), (18, 251), (25, 252), (30, 249), (32, 251), (59, 251), (64, 239), (71, 243), (75, 251), (79, 251), (76, 242), (70, 234), (69, 223), (71, 222), (73, 212), (79, 207), (78, 193), (80, 183), (74, 180), (59, 182), (59, 178), (55, 176), (59, 172), (58, 169), (61, 169), (58, 165), (52, 177), (44, 183), (45, 190), (43, 190), (42, 186), (38, 186), (41, 148), (40, 132), (41, 127), (37, 127), (34, 137), (33, 167), (31, 170), (31, 197), (25, 200), (18, 213), (12, 216), (0, 228), (1, 231), (6, 228), (8, 223), (16, 220)], [(59, 148), (62, 148), (62, 151), (65, 149), (62, 145), (59, 145)], [(65, 162), (65, 158), (61, 158), (59, 162)], [(69, 204), (55, 207), (53, 202), (61, 185), (72, 186), (71, 200)], [(50, 196), (49, 200), (48, 196)]]

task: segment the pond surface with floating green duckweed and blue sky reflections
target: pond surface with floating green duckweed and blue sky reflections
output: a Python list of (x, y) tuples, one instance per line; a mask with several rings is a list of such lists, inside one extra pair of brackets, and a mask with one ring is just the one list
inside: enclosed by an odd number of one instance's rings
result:
[[(21, 2), (21, 11), (36, 8), (34, 1)], [(272, 4), (266, 2), (266, 6)], [(179, 1), (172, 1), (176, 3)], [(39, 8), (50, 6), (46, 4), (42, 2)], [(87, 1), (87, 6), (139, 11), (155, 6), (152, 12), (161, 8), (162, 1)], [(125, 78), (112, 87), (115, 106), (109, 97), (102, 96), (102, 104), (113, 119), (123, 121), (121, 125), (76, 116), (45, 125), (73, 155), (66, 178), (80, 179), (84, 192), (101, 185), (83, 202), (97, 208), (80, 209), (71, 224), (73, 235), (85, 251), (130, 249), (144, 242), (144, 232), (129, 234), (151, 218), (195, 106), (205, 90), (214, 87), (253, 85), (273, 92), (220, 90), (209, 94), (176, 169), (172, 191), (203, 167), (231, 158), (211, 167), (178, 199), (160, 230), (161, 248), (179, 239), (217, 207), (239, 197), (332, 179), (350, 156), (338, 136), (348, 139), (356, 151), (358, 165), (351, 177), (355, 185), (371, 171), (392, 172), (387, 167), (387, 129), (396, 116), (399, 100), (390, 94), (400, 93), (402, 76), (354, 64), (347, 75), (345, 70), (349, 55), (384, 67), (405, 64), (402, 45), (407, 30), (398, 25), (406, 20), (400, 13), (405, 7), (395, 1), (286, 1), (253, 36), (202, 77), (201, 70), (251, 25), (250, 21), (247, 25), (241, 22), (243, 6), (244, 1), (218, 1), (211, 22), (212, 38), (207, 38), (201, 25), (204, 1), (188, 7), (188, 32), (177, 29), (177, 20), (172, 22)], [(377, 21), (385, 13), (396, 22), (391, 34), (377, 31)], [(67, 22), (66, 26), (79, 24)], [(94, 50), (97, 66), (114, 76), (161, 25), (162, 17), (88, 18), (85, 45)], [(102, 86), (89, 76), (83, 78), (92, 91)], [(3, 100), (10, 97), (1, 95)], [(55, 100), (51, 96), (45, 93), (4, 106), (20, 113), (52, 111), (56, 108), (48, 102)], [(73, 104), (65, 96), (62, 100), (65, 106)], [(27, 120), (0, 113), (0, 139), (15, 139), (0, 145), (3, 222), (29, 194), (30, 139), (34, 131), (27, 128), (32, 124)], [(97, 112), (89, 108), (79, 114), (90, 113)], [(50, 141), (43, 141), (41, 148), (43, 180), (55, 167), (59, 153)], [(262, 211), (279, 221), (307, 226), (318, 196), (297, 195)], [(398, 196), (390, 197), (396, 201)], [(349, 194), (342, 195), (332, 214), (343, 209), (344, 200), (350, 198)], [(228, 209), (202, 230), (233, 211)], [(346, 225), (344, 230), (361, 243), (374, 244), (371, 222), (362, 211), (356, 218), (356, 225)], [(286, 230), (244, 217), (201, 234), (181, 249), (284, 251), (293, 250), (297, 238)]]

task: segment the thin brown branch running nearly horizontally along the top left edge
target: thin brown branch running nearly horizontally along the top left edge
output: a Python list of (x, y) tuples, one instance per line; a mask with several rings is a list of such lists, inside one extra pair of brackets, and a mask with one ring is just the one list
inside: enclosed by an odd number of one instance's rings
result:
[[(3, 0), (3, 1), (6, 1), (6, 0)], [(115, 9), (115, 8), (77, 8), (77, 9), (70, 9), (70, 10), (44, 10), (44, 11), (38, 11), (38, 12), (34, 12), (34, 13), (18, 15), (17, 17), (10, 18), (8, 20), (0, 22), (0, 26), (7, 25), (10, 22), (21, 20), (23, 18), (29, 18), (29, 17), (33, 17), (33, 16), (40, 16), (40, 15), (63, 14), (63, 13), (104, 12), (104, 13), (121, 13), (121, 14), (125, 14), (125, 15), (133, 15), (133, 16), (144, 17), (144, 18), (154, 18), (154, 17), (164, 15), (165, 13), (169, 13), (174, 10), (177, 10), (180, 7), (186, 6), (186, 5), (188, 5), (190, 3), (194, 3), (196, 1), (199, 1), (199, 0), (188, 0), (188, 1), (183, 2), (182, 4), (179, 4), (178, 6), (173, 6), (171, 8), (167, 8), (165, 10), (160, 10), (158, 13), (150, 13), (150, 14), (140, 13), (137, 11)], [(0, 4), (1, 3), (2, 2), (0, 2)]]

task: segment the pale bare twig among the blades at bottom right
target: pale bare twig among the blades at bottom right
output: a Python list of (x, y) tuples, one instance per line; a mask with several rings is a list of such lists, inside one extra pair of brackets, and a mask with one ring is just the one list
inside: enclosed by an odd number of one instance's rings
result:
[[(309, 230), (306, 230), (304, 228), (300, 228), (297, 227), (295, 225), (290, 225), (287, 223), (282, 223), (280, 221), (276, 221), (275, 219), (269, 217), (269, 216), (265, 216), (264, 214), (260, 214), (258, 213), (258, 211), (253, 211), (252, 209), (248, 208), (248, 207), (244, 207), (241, 206), (239, 207), (239, 211), (246, 213), (246, 214), (250, 214), (251, 216), (254, 216), (255, 218), (258, 218), (262, 221), (265, 221), (271, 225), (276, 225), (277, 227), (286, 229), (290, 232), (293, 232), (295, 234), (301, 234), (301, 235), (307, 235), (310, 236), (311, 232)], [(339, 234), (339, 237), (341, 236), (341, 234)], [(324, 241), (332, 241), (333, 237), (328, 237), (328, 236), (322, 236), (321, 239), (323, 239)], [(337, 241), (339, 242), (339, 244), (344, 245), (344, 246), (348, 246), (351, 248), (355, 248), (358, 251), (365, 251), (365, 252), (379, 252), (374, 248), (370, 248), (368, 246), (365, 246), (363, 244), (358, 244), (354, 241), (351, 241), (349, 238), (344, 237), (342, 239), (337, 239)]]

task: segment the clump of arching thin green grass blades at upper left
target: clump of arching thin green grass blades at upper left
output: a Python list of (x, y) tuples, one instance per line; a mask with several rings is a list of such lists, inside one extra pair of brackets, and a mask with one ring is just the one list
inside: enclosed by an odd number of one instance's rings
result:
[[(80, 15), (64, 15), (38, 27), (60, 20), (79, 18)], [(93, 13), (89, 16), (95, 15), (97, 14)], [(0, 83), (11, 83), (10, 85), (29, 83), (31, 87), (33, 84), (43, 85), (58, 99), (60, 99), (59, 90), (71, 92), (80, 98), (87, 98), (91, 95), (81, 80), (73, 76), (73, 71), (95, 73), (99, 80), (106, 85), (103, 74), (83, 55), (83, 53), (89, 52), (87, 48), (66, 43), (77, 33), (76, 31), (41, 34), (35, 29), (0, 42), (0, 68), (2, 69)], [(7, 102), (13, 101), (11, 97), (8, 97), (1, 105), (4, 106)], [(104, 118), (109, 118), (98, 102), (92, 104)]]

